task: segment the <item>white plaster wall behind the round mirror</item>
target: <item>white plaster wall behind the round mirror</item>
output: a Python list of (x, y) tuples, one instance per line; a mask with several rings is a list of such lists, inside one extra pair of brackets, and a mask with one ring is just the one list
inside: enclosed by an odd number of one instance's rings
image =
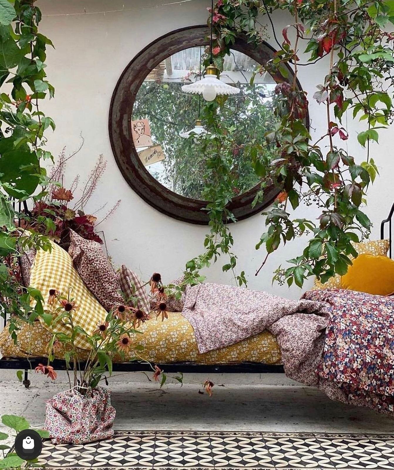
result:
[[(43, 13), (41, 31), (53, 40), (56, 47), (55, 51), (48, 49), (47, 59), (47, 75), (55, 86), (55, 99), (43, 107), (54, 118), (57, 126), (55, 133), (49, 135), (48, 148), (56, 155), (66, 145), (71, 152), (78, 147), (79, 134), (82, 133), (85, 145), (79, 156), (68, 164), (66, 183), (69, 184), (77, 173), (83, 181), (94, 167), (99, 154), (104, 155), (108, 161), (107, 171), (87, 210), (93, 212), (106, 202), (111, 207), (121, 199), (115, 214), (100, 226), (105, 232), (114, 263), (130, 266), (144, 279), (158, 271), (162, 273), (165, 282), (169, 282), (179, 276), (186, 261), (203, 251), (207, 227), (169, 218), (142, 201), (118, 170), (108, 136), (110, 97), (127, 63), (159, 36), (177, 28), (206, 22), (206, 7), (210, 4), (208, 0), (161, 6), (164, 3), (170, 3), (170, 0), (38, 1)], [(125, 10), (105, 15), (89, 14), (122, 8)], [(128, 10), (130, 8), (133, 10)], [(63, 15), (84, 11), (87, 14)], [(291, 23), (292, 18), (279, 12), (274, 15), (274, 20), (277, 35), (281, 38), (283, 27)], [(265, 24), (267, 20), (263, 18), (262, 22)], [(274, 41), (269, 42), (275, 47)], [(319, 108), (312, 100), (312, 95), (315, 85), (323, 82), (327, 68), (327, 62), (322, 60), (314, 66), (300, 67), (299, 71), (300, 82), (309, 94), (311, 130), (316, 137), (325, 132), (325, 110), (323, 105)], [(350, 138), (347, 145), (362, 161), (365, 150), (357, 142), (357, 128), (358, 124), (349, 122)], [(382, 133), (379, 146), (372, 144), (372, 156), (381, 167), (381, 176), (370, 190), (367, 209), (375, 225), (374, 237), (379, 236), (380, 220), (386, 216), (394, 200), (391, 133), (392, 130)], [(316, 219), (319, 213), (310, 207), (299, 207), (296, 215)], [(295, 240), (272, 254), (259, 276), (255, 277), (254, 272), (265, 257), (263, 248), (260, 251), (254, 248), (265, 230), (264, 218), (256, 215), (231, 228), (235, 239), (234, 250), (238, 255), (237, 270), (245, 270), (249, 287), (269, 290), (286, 297), (299, 297), (300, 290), (297, 287), (288, 290), (277, 284), (271, 286), (271, 280), (277, 266), (301, 253), (303, 241)], [(233, 283), (229, 273), (221, 272), (222, 264), (224, 259), (207, 271), (208, 280)], [(311, 284), (312, 281), (306, 287)]]

